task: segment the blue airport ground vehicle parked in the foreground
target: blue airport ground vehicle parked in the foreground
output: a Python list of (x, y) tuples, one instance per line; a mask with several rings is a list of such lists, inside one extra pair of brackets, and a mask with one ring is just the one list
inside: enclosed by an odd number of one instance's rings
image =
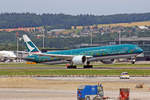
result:
[(77, 89), (77, 100), (103, 100), (104, 91), (102, 84), (82, 85)]

